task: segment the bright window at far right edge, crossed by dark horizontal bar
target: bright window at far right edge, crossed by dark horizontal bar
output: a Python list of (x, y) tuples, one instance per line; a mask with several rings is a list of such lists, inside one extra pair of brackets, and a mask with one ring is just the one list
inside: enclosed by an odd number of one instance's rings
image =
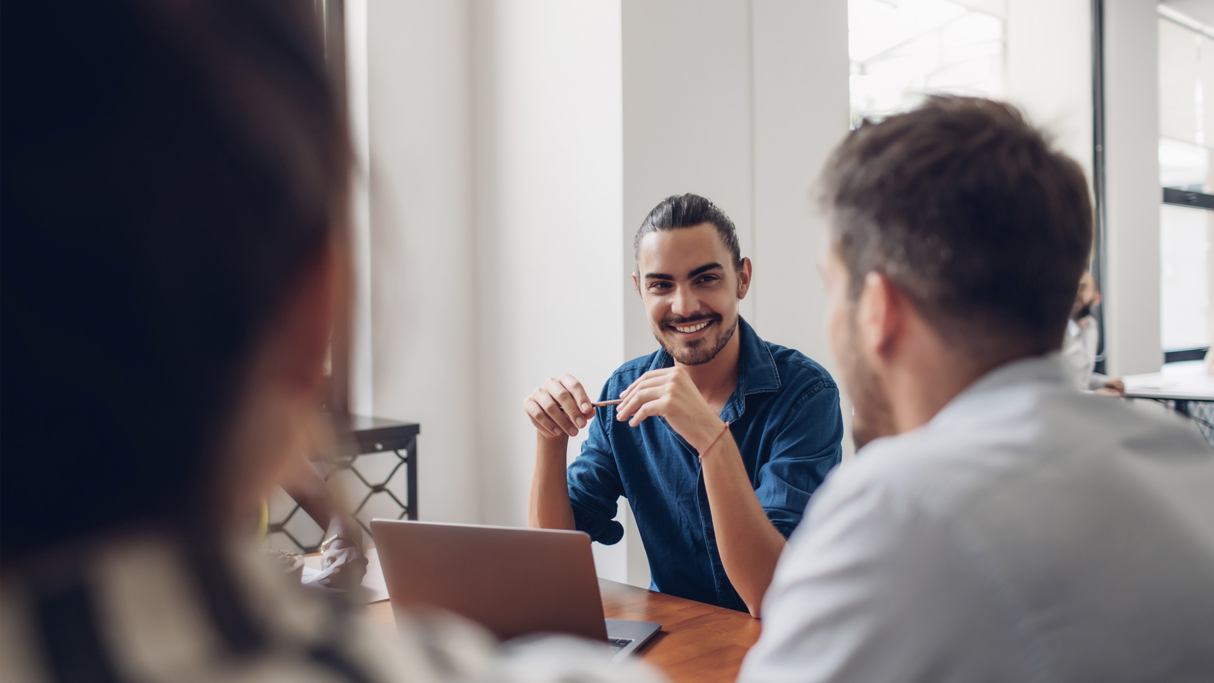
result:
[[(1159, 185), (1210, 193), (1214, 154), (1214, 28), (1159, 7)], [(1214, 12), (1212, 12), (1214, 13)], [(1210, 344), (1210, 236), (1214, 210), (1159, 208), (1161, 344), (1164, 351)]]

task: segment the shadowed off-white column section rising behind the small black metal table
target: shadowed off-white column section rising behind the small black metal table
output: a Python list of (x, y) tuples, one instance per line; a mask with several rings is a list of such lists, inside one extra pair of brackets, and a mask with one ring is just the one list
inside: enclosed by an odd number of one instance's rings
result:
[(470, 6), (368, 5), (375, 413), (421, 423), (422, 519), (477, 521)]

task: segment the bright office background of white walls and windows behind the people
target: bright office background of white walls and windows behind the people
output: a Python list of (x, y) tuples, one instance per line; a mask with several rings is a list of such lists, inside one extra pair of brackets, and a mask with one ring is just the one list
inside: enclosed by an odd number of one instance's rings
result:
[[(316, 4), (358, 154), (352, 407), (421, 424), (421, 519), (526, 524), (522, 399), (565, 372), (597, 391), (657, 348), (629, 276), (669, 194), (732, 216), (755, 267), (742, 315), (834, 372), (815, 180), (849, 128), (925, 94), (1010, 101), (1083, 164), (1108, 374), (1214, 337), (1214, 0)], [(364, 523), (399, 514), (403, 476), (334, 475)], [(289, 535), (270, 546), (319, 541), (293, 508), (271, 502)], [(619, 514), (599, 574), (647, 587)]]

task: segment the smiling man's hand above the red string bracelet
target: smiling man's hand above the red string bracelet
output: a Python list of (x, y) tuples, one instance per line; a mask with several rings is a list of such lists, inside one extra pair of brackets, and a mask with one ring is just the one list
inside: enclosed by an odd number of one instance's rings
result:
[(645, 418), (664, 417), (700, 455), (725, 427), (682, 366), (651, 369), (619, 396), (624, 402), (615, 407), (615, 419), (636, 427)]

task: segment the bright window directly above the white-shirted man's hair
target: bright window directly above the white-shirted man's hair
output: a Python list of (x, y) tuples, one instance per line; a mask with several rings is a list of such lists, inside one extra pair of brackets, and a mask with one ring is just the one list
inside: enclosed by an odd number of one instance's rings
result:
[(924, 95), (1005, 97), (1003, 0), (849, 0), (851, 123)]

